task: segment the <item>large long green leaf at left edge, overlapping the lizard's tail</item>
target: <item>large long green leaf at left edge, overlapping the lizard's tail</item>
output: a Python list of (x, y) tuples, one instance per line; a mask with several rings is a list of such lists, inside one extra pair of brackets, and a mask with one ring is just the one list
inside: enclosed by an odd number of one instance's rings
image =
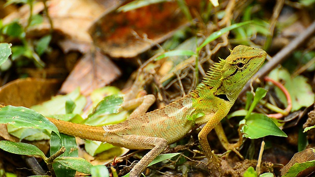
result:
[(42, 128), (54, 131), (57, 127), (41, 114), (25, 107), (6, 106), (0, 109), (0, 123), (8, 123), (18, 128)]

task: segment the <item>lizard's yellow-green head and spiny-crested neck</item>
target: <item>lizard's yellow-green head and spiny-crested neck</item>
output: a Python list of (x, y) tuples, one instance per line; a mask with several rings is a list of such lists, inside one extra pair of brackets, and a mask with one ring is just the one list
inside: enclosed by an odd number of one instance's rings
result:
[(266, 56), (266, 52), (262, 49), (236, 46), (225, 60), (221, 59), (212, 67), (203, 84), (214, 90), (215, 96), (234, 103)]

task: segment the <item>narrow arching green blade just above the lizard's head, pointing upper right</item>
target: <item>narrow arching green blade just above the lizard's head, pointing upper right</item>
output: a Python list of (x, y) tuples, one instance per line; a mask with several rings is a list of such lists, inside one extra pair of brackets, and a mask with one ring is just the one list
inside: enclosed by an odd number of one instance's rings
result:
[(219, 38), (225, 32), (228, 32), (228, 31), (230, 31), (232, 29), (236, 29), (238, 27), (241, 27), (243, 25), (247, 25), (247, 24), (250, 24), (250, 23), (252, 23), (252, 21), (237, 23), (237, 24), (233, 24), (233, 25), (231, 25), (229, 27), (222, 28), (222, 29), (220, 29), (220, 30), (218, 30), (216, 32), (213, 32), (212, 34), (210, 34), (210, 36), (208, 36), (206, 38), (206, 40), (199, 47), (197, 47), (197, 51), (200, 51), (204, 46), (206, 46), (210, 42), (214, 41), (215, 39)]

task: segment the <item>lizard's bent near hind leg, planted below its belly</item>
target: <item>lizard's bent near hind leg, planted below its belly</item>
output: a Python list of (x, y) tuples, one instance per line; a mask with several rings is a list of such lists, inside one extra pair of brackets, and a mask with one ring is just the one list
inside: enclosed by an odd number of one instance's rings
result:
[(151, 149), (142, 159), (131, 169), (130, 177), (139, 177), (147, 166), (167, 148), (167, 141), (164, 138), (147, 137), (139, 135), (123, 135), (121, 143), (129, 149)]

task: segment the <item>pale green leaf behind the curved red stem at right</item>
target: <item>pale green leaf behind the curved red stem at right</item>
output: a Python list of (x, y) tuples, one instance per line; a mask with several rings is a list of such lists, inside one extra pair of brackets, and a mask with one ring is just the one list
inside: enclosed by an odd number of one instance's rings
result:
[[(315, 94), (304, 76), (299, 75), (292, 78), (286, 69), (277, 68), (271, 71), (269, 77), (276, 81), (284, 81), (284, 87), (289, 92), (292, 100), (291, 112), (297, 111), (302, 107), (309, 107), (314, 103)], [(280, 101), (287, 106), (284, 93), (279, 88), (275, 88), (275, 91)]]

